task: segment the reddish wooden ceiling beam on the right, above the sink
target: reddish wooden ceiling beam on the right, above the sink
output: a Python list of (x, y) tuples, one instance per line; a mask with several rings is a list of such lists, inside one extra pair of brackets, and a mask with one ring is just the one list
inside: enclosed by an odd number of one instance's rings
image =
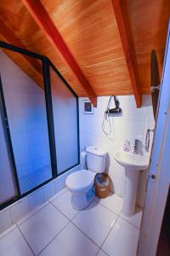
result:
[(122, 48), (127, 61), (128, 73), (133, 86), (133, 94), (136, 100), (137, 108), (140, 108), (142, 102), (142, 94), (139, 88), (138, 66), (133, 47), (133, 38), (130, 32), (127, 9), (125, 3), (123, 3), (123, 0), (112, 0), (112, 5), (122, 41)]

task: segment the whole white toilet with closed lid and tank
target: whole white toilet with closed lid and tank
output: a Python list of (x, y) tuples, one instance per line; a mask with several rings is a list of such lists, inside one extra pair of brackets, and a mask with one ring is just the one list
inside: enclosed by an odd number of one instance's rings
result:
[(93, 201), (94, 177), (97, 173), (105, 172), (106, 154), (107, 152), (102, 148), (88, 146), (86, 157), (84, 155), (81, 157), (81, 168), (86, 164), (88, 170), (83, 167), (82, 170), (73, 172), (66, 178), (65, 185), (72, 193), (71, 203), (75, 209), (82, 210)]

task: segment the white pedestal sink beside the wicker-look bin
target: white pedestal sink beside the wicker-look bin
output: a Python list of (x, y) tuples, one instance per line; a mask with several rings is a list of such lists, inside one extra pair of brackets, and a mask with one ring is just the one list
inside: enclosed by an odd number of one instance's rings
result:
[(136, 204), (139, 172), (148, 168), (149, 158), (131, 152), (118, 151), (115, 154), (115, 160), (118, 164), (125, 167), (125, 189), (122, 213), (126, 216), (132, 216)]

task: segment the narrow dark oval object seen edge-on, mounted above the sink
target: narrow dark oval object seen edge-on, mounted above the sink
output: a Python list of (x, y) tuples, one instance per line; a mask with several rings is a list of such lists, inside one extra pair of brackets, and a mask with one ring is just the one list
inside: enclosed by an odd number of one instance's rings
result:
[(160, 91), (160, 76), (156, 56), (156, 50), (153, 49), (150, 56), (150, 90), (153, 105), (154, 118), (156, 119), (157, 103)]

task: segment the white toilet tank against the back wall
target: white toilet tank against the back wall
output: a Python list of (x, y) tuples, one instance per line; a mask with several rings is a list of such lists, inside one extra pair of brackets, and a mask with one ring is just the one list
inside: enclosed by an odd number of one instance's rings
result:
[(105, 172), (105, 158), (107, 152), (102, 148), (94, 146), (88, 146), (86, 152), (88, 170), (96, 173)]

